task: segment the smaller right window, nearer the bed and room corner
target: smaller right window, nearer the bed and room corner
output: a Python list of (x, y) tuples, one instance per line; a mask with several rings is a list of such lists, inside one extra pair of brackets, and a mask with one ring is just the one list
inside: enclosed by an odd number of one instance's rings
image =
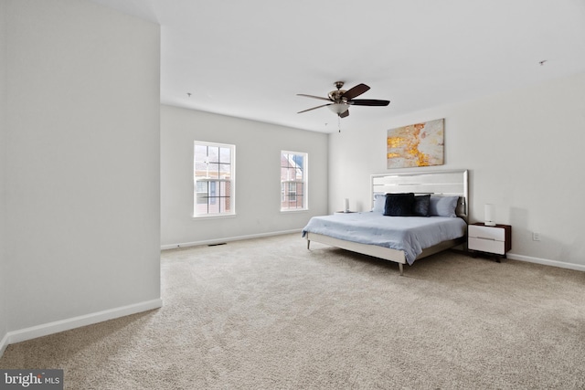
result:
[(307, 153), (281, 152), (281, 211), (307, 209)]

